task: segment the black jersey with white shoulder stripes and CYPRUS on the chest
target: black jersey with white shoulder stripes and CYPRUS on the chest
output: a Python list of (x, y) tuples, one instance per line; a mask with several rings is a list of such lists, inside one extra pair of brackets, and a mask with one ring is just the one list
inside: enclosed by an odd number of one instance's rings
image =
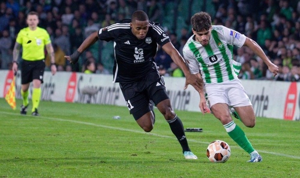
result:
[(130, 22), (131, 19), (124, 19), (98, 31), (100, 40), (114, 41), (113, 82), (134, 82), (157, 70), (154, 56), (158, 44), (170, 42), (163, 28), (154, 22), (149, 22), (146, 37), (139, 40), (132, 33)]

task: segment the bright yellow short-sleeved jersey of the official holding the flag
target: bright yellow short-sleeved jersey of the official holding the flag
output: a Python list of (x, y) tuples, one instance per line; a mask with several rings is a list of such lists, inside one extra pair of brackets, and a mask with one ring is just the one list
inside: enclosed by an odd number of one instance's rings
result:
[(50, 36), (44, 28), (37, 27), (34, 31), (29, 27), (18, 33), (16, 42), (22, 45), (22, 58), (27, 61), (38, 61), (45, 58), (45, 45), (51, 43)]

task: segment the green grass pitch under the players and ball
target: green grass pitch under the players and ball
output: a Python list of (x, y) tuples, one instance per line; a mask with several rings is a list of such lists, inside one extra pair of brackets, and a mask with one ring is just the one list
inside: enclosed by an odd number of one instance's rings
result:
[[(126, 107), (41, 101), (39, 117), (19, 114), (0, 99), (0, 177), (299, 177), (300, 122), (257, 118), (246, 133), (263, 161), (250, 156), (227, 135), (212, 114), (176, 111), (197, 160), (186, 160), (168, 123), (155, 109), (156, 123), (143, 132)], [(113, 116), (119, 115), (119, 120)], [(211, 163), (206, 148), (224, 140), (225, 163)]]

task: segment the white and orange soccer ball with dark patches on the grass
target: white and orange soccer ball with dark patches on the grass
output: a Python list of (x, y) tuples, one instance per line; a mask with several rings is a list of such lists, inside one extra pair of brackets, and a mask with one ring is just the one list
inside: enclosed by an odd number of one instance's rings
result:
[(230, 157), (230, 147), (225, 141), (215, 140), (208, 145), (206, 155), (211, 162), (226, 162)]

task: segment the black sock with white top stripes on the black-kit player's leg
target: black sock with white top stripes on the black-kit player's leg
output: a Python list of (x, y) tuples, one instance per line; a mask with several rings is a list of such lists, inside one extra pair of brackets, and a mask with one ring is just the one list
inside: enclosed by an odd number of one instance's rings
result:
[(183, 128), (182, 122), (179, 119), (179, 117), (176, 115), (174, 117), (174, 119), (167, 120), (167, 122), (169, 123), (173, 134), (178, 139), (178, 141), (179, 141), (179, 143), (182, 147), (182, 151), (183, 152), (184, 151), (190, 151), (190, 148), (188, 147), (188, 144), (187, 144), (187, 139), (186, 139), (185, 134), (184, 134), (184, 128)]

